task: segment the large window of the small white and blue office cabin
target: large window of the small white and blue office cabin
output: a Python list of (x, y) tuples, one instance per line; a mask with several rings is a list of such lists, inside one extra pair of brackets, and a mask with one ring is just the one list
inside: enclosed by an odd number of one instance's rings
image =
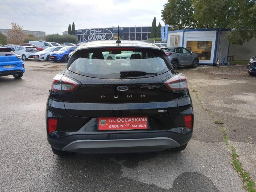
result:
[(200, 60), (211, 60), (212, 41), (187, 41), (187, 49), (196, 53)]

